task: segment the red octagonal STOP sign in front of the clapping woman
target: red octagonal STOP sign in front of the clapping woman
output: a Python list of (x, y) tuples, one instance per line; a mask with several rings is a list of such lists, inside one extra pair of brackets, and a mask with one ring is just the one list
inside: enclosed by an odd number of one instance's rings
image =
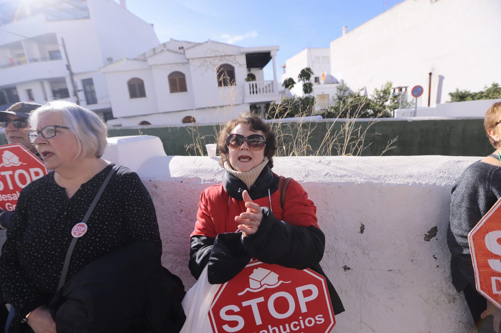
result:
[(324, 333), (336, 323), (322, 275), (261, 261), (221, 284), (208, 315), (214, 333)]

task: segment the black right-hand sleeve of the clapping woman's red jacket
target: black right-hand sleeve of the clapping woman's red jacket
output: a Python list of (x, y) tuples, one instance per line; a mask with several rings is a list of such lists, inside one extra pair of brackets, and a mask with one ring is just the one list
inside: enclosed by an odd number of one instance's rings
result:
[(260, 261), (297, 269), (322, 260), (325, 235), (316, 226), (299, 226), (282, 221), (262, 207), (263, 220), (255, 234), (243, 237), (245, 251)]

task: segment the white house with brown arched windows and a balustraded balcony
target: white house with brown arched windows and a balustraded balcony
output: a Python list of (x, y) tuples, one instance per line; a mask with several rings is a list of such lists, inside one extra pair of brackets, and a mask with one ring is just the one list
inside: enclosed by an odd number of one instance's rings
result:
[[(279, 99), (278, 46), (240, 47), (207, 40), (173, 40), (101, 68), (106, 75), (112, 125), (224, 122)], [(263, 67), (273, 61), (273, 80)]]

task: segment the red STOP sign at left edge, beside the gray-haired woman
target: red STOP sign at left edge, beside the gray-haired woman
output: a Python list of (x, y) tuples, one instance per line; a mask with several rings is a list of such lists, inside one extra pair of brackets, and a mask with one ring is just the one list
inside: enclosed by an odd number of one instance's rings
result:
[(0, 145), (0, 208), (16, 209), (21, 190), (48, 173), (44, 162), (20, 143)]

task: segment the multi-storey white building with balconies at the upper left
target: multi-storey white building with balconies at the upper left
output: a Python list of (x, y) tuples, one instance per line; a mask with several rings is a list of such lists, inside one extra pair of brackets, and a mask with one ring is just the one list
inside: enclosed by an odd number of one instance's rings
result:
[(99, 68), (159, 42), (153, 26), (128, 11), (125, 0), (0, 0), (0, 28), (0, 109), (20, 100), (78, 98), (110, 117)]

